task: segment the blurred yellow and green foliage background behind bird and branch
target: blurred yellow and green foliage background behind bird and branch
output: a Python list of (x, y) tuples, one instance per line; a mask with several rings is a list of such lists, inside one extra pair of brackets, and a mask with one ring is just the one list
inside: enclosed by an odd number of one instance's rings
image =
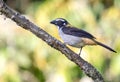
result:
[[(81, 57), (103, 75), (105, 82), (120, 82), (120, 0), (4, 1), (59, 40), (57, 28), (49, 22), (63, 17), (114, 48), (118, 53), (100, 46), (84, 47)], [(93, 81), (59, 51), (0, 15), (0, 82)]]

